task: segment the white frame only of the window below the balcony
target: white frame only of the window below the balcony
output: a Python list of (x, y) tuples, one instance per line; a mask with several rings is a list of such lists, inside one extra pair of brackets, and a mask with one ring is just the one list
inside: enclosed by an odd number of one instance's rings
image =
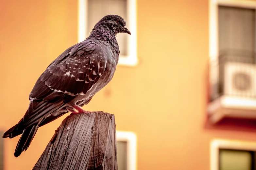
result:
[(256, 142), (213, 139), (210, 144), (210, 170), (219, 170), (219, 149), (256, 151)]

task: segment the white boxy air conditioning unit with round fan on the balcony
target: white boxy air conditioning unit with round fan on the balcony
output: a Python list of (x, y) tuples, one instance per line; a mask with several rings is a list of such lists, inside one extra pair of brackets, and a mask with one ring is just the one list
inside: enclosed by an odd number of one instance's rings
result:
[(256, 97), (256, 65), (227, 62), (224, 65), (224, 94)]

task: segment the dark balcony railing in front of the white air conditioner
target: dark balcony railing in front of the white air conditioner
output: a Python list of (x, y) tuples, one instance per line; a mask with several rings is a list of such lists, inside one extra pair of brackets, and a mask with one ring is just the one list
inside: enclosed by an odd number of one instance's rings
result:
[(211, 63), (211, 100), (222, 95), (256, 99), (256, 54), (246, 50), (222, 50)]

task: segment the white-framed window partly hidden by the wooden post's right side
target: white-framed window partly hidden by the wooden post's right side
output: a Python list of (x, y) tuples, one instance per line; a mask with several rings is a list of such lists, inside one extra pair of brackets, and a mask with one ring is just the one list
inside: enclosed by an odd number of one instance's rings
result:
[(136, 135), (132, 132), (116, 131), (118, 170), (136, 170)]

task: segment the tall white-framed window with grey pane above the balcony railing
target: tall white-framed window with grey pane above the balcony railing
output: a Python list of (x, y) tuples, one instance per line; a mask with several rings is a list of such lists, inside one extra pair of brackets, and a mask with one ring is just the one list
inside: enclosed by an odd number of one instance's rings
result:
[[(255, 53), (256, 2), (246, 0), (209, 0), (210, 58), (223, 54)], [(255, 58), (255, 56), (254, 56)]]

